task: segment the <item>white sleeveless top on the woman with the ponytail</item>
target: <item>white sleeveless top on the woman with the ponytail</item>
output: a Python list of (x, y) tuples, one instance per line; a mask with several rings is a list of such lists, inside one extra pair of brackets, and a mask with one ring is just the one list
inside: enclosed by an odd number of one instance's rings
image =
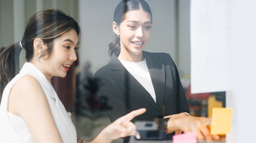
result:
[(8, 83), (2, 94), (2, 101), (0, 104), (0, 142), (35, 142), (24, 120), (20, 116), (12, 114), (7, 110), (11, 88), (17, 80), (20, 79), (20, 77), (25, 75), (35, 77), (42, 86), (48, 100), (50, 110), (52, 111), (53, 119), (55, 120), (59, 133), (61, 134), (62, 141), (65, 143), (76, 143), (76, 128), (65, 110), (64, 105), (59, 100), (52, 84), (46, 79), (44, 74), (31, 63), (24, 64), (20, 73)]

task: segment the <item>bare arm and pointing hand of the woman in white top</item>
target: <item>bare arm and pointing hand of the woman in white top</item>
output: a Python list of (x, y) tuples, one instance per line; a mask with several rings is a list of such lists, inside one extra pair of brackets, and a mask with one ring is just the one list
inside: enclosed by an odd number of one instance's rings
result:
[[(46, 95), (34, 77), (23, 76), (16, 82), (10, 92), (8, 111), (22, 117), (35, 142), (63, 142)], [(141, 108), (120, 117), (103, 129), (90, 143), (111, 142), (113, 139), (130, 135), (135, 135), (139, 139), (140, 135), (131, 120), (145, 111), (145, 108)], [(83, 142), (82, 139), (77, 141)]]

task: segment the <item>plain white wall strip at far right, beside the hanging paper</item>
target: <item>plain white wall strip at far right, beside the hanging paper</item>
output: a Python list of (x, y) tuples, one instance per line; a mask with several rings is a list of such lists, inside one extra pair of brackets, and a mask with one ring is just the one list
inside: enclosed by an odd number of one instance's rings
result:
[(233, 108), (228, 142), (255, 142), (256, 1), (236, 0), (236, 32), (233, 35), (233, 78), (227, 107)]

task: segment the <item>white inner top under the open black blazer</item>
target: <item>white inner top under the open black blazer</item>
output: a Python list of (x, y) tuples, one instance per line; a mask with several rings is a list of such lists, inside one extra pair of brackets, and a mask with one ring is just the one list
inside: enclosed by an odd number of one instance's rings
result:
[(153, 83), (149, 74), (149, 69), (147, 69), (146, 58), (138, 63), (120, 60), (124, 65), (125, 69), (138, 80), (138, 82), (146, 89), (151, 95), (153, 100), (156, 102), (155, 89), (153, 88)]

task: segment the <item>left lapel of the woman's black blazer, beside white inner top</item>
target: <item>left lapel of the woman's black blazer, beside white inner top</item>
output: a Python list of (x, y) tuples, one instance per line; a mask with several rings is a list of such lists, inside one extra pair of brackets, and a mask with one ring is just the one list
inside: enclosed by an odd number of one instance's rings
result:
[(159, 111), (158, 105), (155, 104), (155, 101), (149, 94), (149, 92), (144, 89), (144, 87), (132, 76), (127, 69), (122, 65), (121, 61), (118, 60), (115, 54), (112, 55), (109, 61), (109, 67), (113, 71), (115, 77), (121, 84), (123, 84), (126, 89), (125, 90), (125, 100), (129, 101), (129, 96), (135, 94), (144, 99), (144, 101), (148, 102), (152, 105), (156, 110)]

